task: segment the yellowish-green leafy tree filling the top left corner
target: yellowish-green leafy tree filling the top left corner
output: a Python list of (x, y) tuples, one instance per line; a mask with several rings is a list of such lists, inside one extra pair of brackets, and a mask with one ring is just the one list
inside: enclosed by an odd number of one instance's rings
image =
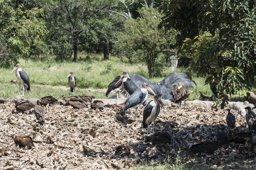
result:
[(22, 4), (11, 6), (10, 0), (0, 0), (1, 66), (47, 52), (44, 37), (47, 34), (43, 9), (24, 9)]

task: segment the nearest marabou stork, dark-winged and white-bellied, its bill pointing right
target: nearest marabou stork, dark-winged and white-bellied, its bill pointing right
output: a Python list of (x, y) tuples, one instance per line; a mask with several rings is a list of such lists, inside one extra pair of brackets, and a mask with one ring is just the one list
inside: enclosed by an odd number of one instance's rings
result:
[(149, 124), (152, 122), (152, 133), (154, 134), (154, 124), (155, 119), (157, 118), (159, 112), (160, 112), (160, 105), (165, 108), (164, 103), (162, 100), (155, 95), (154, 100), (151, 100), (148, 102), (147, 106), (145, 107), (143, 111), (143, 127), (147, 127), (147, 136), (149, 135)]

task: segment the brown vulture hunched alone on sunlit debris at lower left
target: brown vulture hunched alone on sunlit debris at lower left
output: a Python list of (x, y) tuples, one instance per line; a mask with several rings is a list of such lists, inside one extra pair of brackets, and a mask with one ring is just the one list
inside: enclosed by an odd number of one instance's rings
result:
[(11, 134), (10, 136), (13, 138), (13, 141), (15, 142), (15, 144), (19, 145), (20, 148), (28, 147), (30, 149), (32, 148), (32, 146), (35, 146), (30, 136), (26, 136), (21, 133), (16, 135)]

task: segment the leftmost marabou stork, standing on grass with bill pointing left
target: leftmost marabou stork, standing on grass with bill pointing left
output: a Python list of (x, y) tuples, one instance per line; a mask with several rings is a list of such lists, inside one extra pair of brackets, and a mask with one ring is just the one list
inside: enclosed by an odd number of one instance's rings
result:
[(17, 64), (13, 68), (12, 72), (13, 71), (16, 71), (16, 77), (17, 77), (17, 79), (20, 82), (20, 88), (19, 88), (20, 92), (19, 92), (19, 95), (21, 94), (21, 85), (22, 85), (22, 94), (24, 95), (25, 88), (27, 89), (28, 92), (30, 91), (30, 80), (29, 80), (29, 77), (28, 77), (27, 73), (21, 68), (20, 64)]

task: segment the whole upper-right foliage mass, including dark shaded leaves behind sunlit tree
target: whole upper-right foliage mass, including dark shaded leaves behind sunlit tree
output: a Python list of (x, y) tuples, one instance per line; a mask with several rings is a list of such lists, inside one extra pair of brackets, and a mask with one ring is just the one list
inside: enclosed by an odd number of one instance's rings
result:
[(181, 50), (189, 56), (191, 69), (198, 76), (207, 76), (206, 84), (215, 86), (219, 97), (254, 83), (255, 1), (163, 0), (162, 8), (164, 25), (178, 29), (181, 40), (185, 40)]

